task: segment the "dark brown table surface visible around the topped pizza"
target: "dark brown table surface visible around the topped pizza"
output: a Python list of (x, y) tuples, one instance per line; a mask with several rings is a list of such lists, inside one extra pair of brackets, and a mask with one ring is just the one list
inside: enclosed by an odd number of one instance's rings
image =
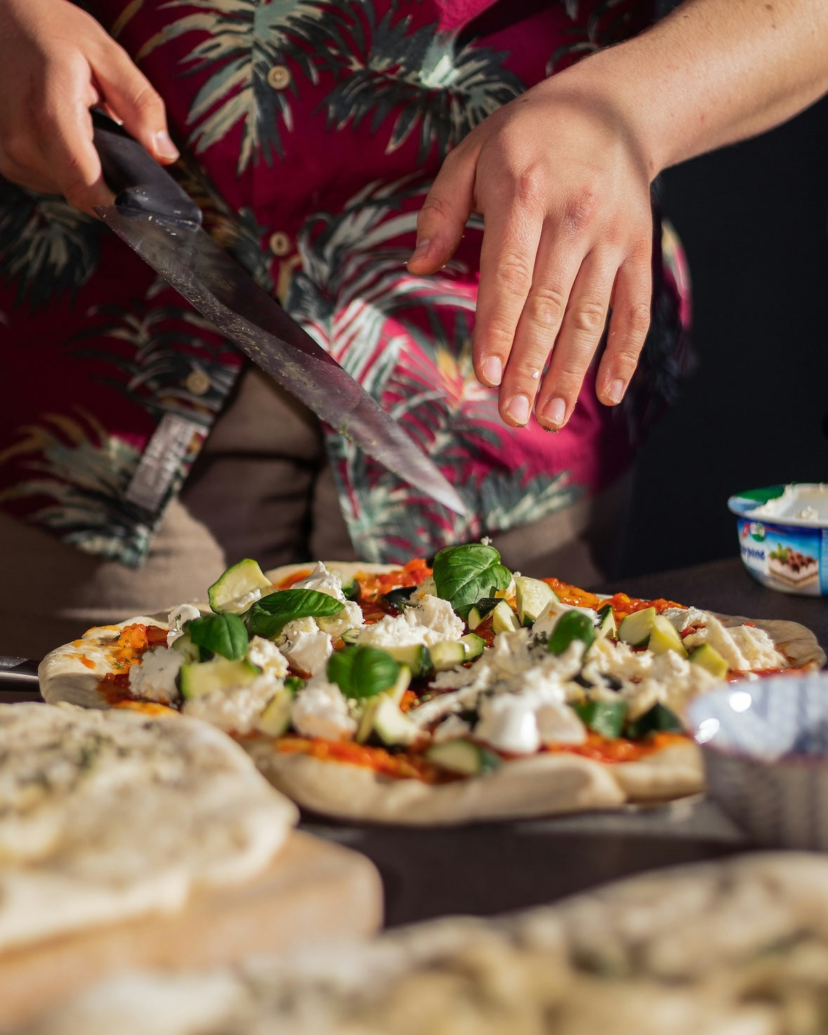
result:
[[(775, 593), (738, 558), (596, 587), (668, 597), (728, 615), (789, 619), (828, 649), (828, 598)], [(0, 666), (0, 701), (33, 700), (31, 664)], [(16, 670), (19, 669), (19, 674)], [(304, 816), (301, 828), (362, 852), (379, 868), (389, 925), (449, 913), (492, 915), (553, 901), (656, 866), (748, 851), (707, 800), (540, 820), (412, 828)]]

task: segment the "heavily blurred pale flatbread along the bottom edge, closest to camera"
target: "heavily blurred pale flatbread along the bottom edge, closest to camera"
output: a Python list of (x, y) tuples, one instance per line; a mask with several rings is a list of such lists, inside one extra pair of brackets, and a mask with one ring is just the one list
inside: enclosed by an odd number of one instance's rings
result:
[(757, 853), (291, 958), (136, 972), (21, 1035), (822, 1035), (828, 861)]

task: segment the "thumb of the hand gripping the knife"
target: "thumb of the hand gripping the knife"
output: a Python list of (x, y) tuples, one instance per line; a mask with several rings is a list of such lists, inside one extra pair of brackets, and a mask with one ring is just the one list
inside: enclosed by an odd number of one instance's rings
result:
[(113, 42), (94, 71), (102, 99), (124, 129), (156, 161), (175, 161), (178, 148), (170, 139), (164, 100), (126, 52)]

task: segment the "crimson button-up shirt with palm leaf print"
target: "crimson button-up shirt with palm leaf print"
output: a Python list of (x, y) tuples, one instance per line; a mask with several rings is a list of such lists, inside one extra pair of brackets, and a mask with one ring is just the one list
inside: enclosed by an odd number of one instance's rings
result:
[[(581, 55), (644, 28), (637, 0), (87, 0), (168, 106), (205, 227), (435, 460), (462, 519), (328, 431), (366, 560), (540, 519), (628, 464), (675, 389), (686, 299), (654, 255), (627, 397), (594, 364), (568, 425), (510, 428), (475, 379), (481, 239), (409, 274), (418, 208), (471, 128)], [(672, 258), (680, 258), (673, 248)], [(0, 506), (139, 565), (242, 357), (97, 220), (0, 178)]]

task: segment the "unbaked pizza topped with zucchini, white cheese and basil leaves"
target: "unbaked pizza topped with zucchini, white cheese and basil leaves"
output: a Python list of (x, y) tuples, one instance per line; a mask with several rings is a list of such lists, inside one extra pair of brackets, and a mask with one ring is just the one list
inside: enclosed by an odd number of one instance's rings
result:
[(90, 629), (39, 676), (49, 702), (213, 723), (314, 811), (439, 824), (697, 793), (686, 703), (824, 661), (795, 623), (599, 597), (483, 540), (432, 565), (245, 559), (206, 602)]

